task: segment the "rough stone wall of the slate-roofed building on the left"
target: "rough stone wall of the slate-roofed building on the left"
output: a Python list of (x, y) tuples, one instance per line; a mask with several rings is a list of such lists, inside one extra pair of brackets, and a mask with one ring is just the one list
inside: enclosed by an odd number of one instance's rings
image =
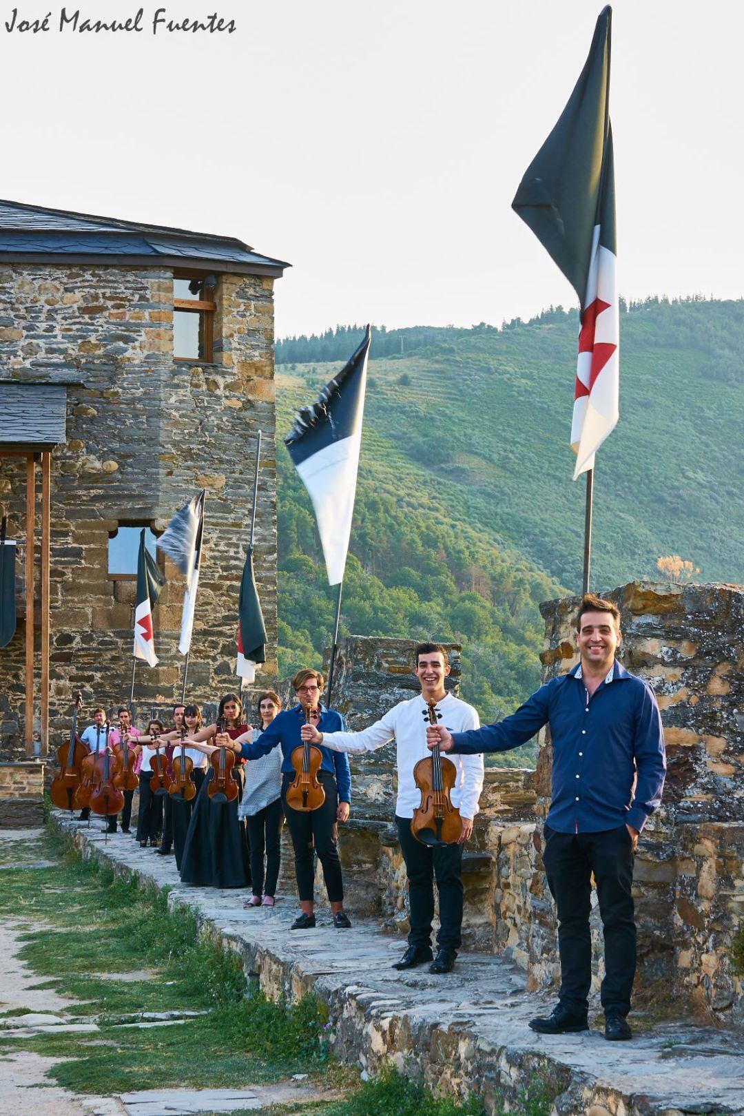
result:
[[(98, 703), (128, 700), (135, 583), (109, 579), (109, 533), (119, 523), (163, 529), (200, 488), (206, 489), (205, 536), (189, 695), (209, 701), (238, 687), (238, 590), (259, 429), (255, 573), (269, 647), (257, 684), (276, 682), (272, 283), (264, 277), (220, 278), (214, 363), (207, 364), (173, 359), (171, 271), (0, 267), (0, 377), (69, 385), (67, 443), (52, 454), (52, 740), (69, 723), (74, 689), (83, 690), (86, 713)], [(23, 501), (25, 462), (0, 461), (0, 511), (19, 540)], [(23, 546), (18, 549), (22, 568)], [(180, 696), (183, 578), (167, 559), (165, 571), (171, 580), (154, 614), (160, 665), (137, 666), (135, 705), (143, 718), (151, 706)], [(0, 660), (6, 751), (22, 734), (23, 628), (19, 622)]]

